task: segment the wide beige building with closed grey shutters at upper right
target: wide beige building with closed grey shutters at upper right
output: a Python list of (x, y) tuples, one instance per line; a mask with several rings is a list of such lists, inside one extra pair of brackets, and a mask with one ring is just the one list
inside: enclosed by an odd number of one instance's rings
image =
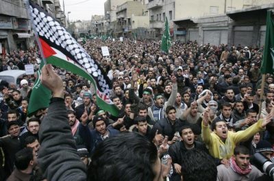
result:
[[(229, 3), (227, 0), (225, 4), (218, 3), (219, 1), (210, 1), (208, 4), (199, 2), (200, 5), (197, 5), (197, 1), (184, 4), (182, 1), (175, 1), (175, 9), (183, 13), (175, 11), (174, 40), (196, 40), (199, 44), (262, 45), (266, 10), (272, 8), (273, 1), (244, 0)], [(193, 11), (187, 11), (187, 7)]]

